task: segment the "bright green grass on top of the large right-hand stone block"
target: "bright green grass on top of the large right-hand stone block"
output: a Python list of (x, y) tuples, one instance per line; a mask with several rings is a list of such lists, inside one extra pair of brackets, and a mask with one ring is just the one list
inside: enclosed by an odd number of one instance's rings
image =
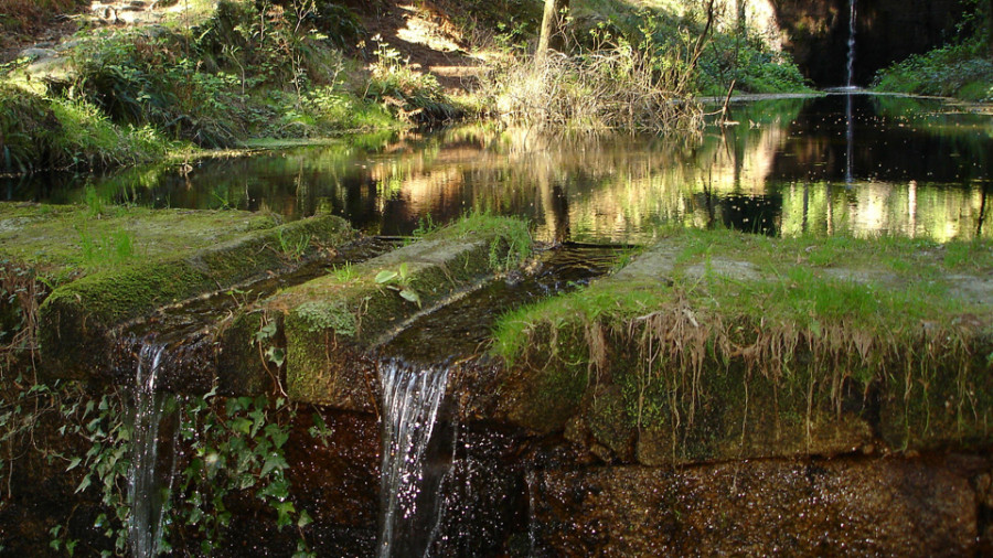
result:
[[(627, 320), (688, 304), (698, 321), (712, 324), (777, 324), (814, 336), (845, 329), (885, 339), (912, 335), (922, 322), (951, 328), (964, 308), (953, 294), (949, 273), (993, 270), (993, 244), (985, 240), (938, 244), (901, 237), (857, 239), (769, 238), (734, 232), (685, 230), (665, 240), (680, 247), (661, 282), (594, 283), (502, 316), (494, 330), (494, 352), (513, 361), (537, 328)], [(761, 279), (719, 272), (722, 261), (754, 265)], [(703, 269), (703, 276), (696, 272)], [(706, 316), (706, 318), (704, 318)], [(734, 336), (734, 331), (715, 334)]]

